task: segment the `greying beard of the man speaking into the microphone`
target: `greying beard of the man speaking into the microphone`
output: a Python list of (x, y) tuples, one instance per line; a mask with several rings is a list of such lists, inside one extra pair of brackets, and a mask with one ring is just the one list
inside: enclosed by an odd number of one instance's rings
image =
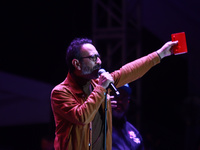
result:
[(98, 78), (98, 71), (101, 68), (101, 65), (96, 65), (93, 68), (89, 66), (82, 66), (82, 75), (87, 79), (96, 79)]

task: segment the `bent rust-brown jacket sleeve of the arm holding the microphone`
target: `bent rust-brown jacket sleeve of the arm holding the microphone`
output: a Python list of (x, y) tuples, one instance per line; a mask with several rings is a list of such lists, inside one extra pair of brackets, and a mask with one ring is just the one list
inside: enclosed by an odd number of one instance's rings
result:
[(103, 87), (96, 86), (89, 97), (84, 97), (83, 94), (77, 96), (63, 87), (54, 88), (51, 94), (51, 105), (56, 121), (65, 120), (78, 125), (88, 124), (105, 99), (105, 92)]

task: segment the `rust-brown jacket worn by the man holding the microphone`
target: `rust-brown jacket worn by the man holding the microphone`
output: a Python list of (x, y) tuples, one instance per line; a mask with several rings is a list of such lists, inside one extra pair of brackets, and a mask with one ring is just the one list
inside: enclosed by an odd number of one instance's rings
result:
[[(158, 64), (160, 58), (156, 52), (122, 66), (111, 73), (118, 88), (143, 76), (151, 67)], [(56, 131), (54, 147), (56, 150), (90, 150), (92, 140), (92, 120), (100, 108), (104, 112), (104, 93), (98, 85), (98, 79), (92, 80), (94, 90), (87, 97), (76, 81), (68, 73), (66, 79), (57, 85), (51, 93), (51, 105)], [(106, 149), (112, 149), (112, 109), (107, 96), (107, 135)]]

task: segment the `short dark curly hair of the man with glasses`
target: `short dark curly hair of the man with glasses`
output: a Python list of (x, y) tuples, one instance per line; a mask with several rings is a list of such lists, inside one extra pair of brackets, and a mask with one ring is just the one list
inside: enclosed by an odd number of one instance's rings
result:
[(75, 59), (80, 59), (80, 49), (81, 46), (85, 43), (90, 43), (92, 44), (92, 40), (88, 38), (75, 38), (67, 48), (66, 52), (66, 62), (67, 66), (69, 67), (69, 72), (74, 71), (74, 66), (72, 65), (72, 60)]

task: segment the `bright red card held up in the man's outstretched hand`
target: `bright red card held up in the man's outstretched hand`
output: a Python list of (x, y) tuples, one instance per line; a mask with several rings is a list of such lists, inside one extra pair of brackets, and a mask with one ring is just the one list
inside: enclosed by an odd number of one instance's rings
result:
[(185, 32), (173, 33), (171, 35), (172, 41), (178, 41), (178, 44), (173, 46), (174, 55), (187, 53), (187, 44)]

